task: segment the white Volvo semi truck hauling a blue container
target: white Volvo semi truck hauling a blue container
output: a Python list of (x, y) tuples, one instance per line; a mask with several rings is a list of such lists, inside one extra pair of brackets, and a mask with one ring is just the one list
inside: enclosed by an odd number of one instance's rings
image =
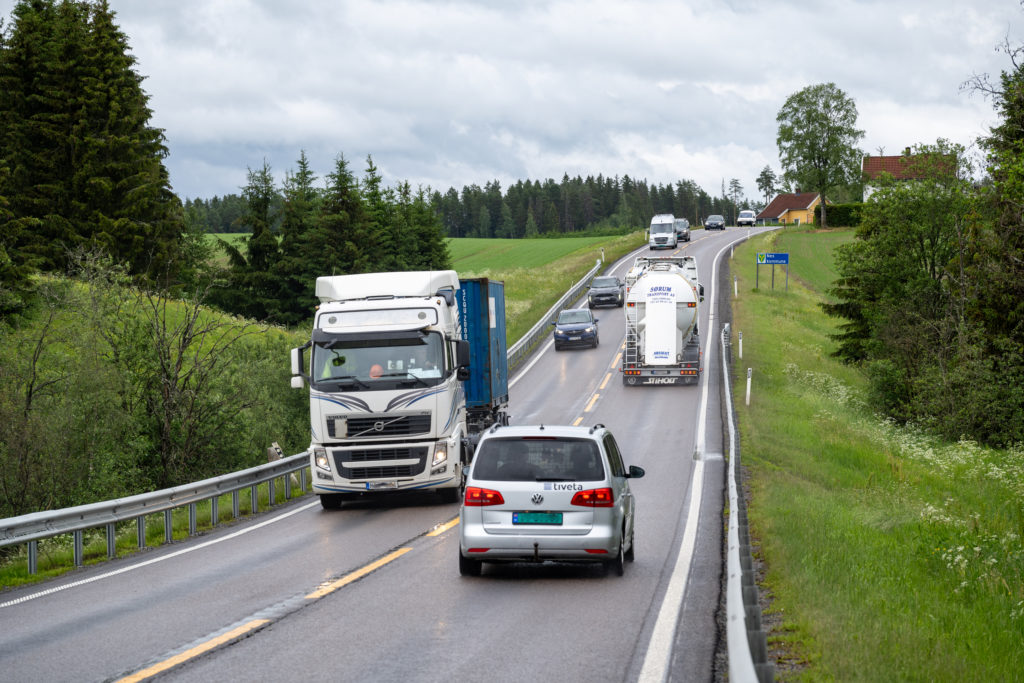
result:
[(414, 489), (458, 500), (474, 437), (508, 423), (504, 284), (376, 272), (317, 278), (315, 293), (292, 387), (309, 386), (321, 504)]

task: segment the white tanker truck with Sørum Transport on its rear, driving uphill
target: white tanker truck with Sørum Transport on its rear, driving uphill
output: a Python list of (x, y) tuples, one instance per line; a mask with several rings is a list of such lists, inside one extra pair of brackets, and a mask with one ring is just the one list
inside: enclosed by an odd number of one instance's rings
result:
[(626, 279), (623, 383), (696, 384), (703, 286), (692, 256), (640, 256)]

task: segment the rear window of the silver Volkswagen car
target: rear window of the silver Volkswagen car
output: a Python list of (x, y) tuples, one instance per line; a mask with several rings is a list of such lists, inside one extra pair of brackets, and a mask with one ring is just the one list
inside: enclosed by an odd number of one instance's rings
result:
[(604, 465), (589, 439), (492, 438), (480, 444), (472, 475), (489, 481), (596, 481), (604, 478)]

